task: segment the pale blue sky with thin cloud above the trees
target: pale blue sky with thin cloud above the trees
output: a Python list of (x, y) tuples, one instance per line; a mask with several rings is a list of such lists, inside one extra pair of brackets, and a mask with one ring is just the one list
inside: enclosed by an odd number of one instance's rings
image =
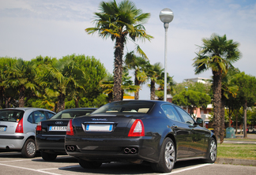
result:
[[(36, 56), (62, 58), (67, 54), (94, 56), (109, 72), (114, 65), (114, 43), (88, 35), (100, 0), (0, 0), (0, 57), (31, 60)], [(120, 0), (117, 0), (120, 2)], [(216, 33), (240, 43), (242, 57), (234, 65), (256, 76), (256, 1), (254, 0), (134, 0), (138, 9), (151, 13), (145, 28), (154, 39), (138, 42), (151, 64), (164, 66), (164, 25), (161, 9), (169, 8), (174, 20), (168, 28), (167, 72), (177, 83), (194, 77), (210, 78), (211, 71), (194, 75), (193, 58), (202, 38)], [(134, 44), (127, 45), (128, 51)], [(127, 50), (125, 50), (126, 53)], [(140, 99), (149, 99), (144, 85)]]

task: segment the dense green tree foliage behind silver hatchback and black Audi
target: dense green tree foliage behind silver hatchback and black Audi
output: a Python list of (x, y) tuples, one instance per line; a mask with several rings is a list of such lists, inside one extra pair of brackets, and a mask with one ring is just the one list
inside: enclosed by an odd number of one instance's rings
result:
[[(65, 108), (65, 102), (75, 107), (78, 104), (102, 106), (107, 102), (100, 88), (106, 69), (93, 57), (75, 54), (60, 59), (39, 56), (31, 61), (0, 58), (0, 68), (2, 108), (34, 106), (59, 111)], [(99, 98), (101, 102), (96, 102)], [(78, 99), (86, 100), (79, 102)]]

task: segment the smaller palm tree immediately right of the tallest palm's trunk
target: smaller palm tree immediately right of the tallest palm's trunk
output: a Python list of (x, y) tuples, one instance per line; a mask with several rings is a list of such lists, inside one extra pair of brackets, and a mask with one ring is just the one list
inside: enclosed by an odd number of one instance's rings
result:
[[(125, 64), (128, 69), (134, 69), (134, 85), (140, 86), (148, 80), (148, 76), (145, 73), (145, 66), (148, 65), (147, 61), (143, 57), (137, 57), (134, 54), (134, 51), (131, 51), (126, 54)], [(139, 90), (134, 92), (134, 99), (139, 99)]]

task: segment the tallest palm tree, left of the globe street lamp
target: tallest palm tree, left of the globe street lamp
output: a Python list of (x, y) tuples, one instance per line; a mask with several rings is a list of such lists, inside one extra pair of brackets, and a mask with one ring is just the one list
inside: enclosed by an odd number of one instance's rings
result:
[[(85, 32), (93, 34), (98, 32), (100, 37), (111, 37), (115, 41), (115, 61), (114, 61), (114, 100), (122, 99), (122, 55), (128, 39), (135, 42), (137, 39), (152, 39), (145, 31), (143, 24), (149, 19), (149, 13), (142, 13), (137, 9), (134, 2), (123, 0), (119, 4), (115, 2), (101, 2), (100, 13), (96, 15), (95, 28), (86, 28)], [(144, 54), (137, 45), (137, 51)]]

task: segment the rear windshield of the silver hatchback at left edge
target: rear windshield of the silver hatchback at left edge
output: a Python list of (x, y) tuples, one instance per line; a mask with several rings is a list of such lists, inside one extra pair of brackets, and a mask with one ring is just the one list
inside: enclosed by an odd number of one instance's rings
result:
[(0, 110), (0, 121), (19, 122), (23, 114), (23, 110)]

